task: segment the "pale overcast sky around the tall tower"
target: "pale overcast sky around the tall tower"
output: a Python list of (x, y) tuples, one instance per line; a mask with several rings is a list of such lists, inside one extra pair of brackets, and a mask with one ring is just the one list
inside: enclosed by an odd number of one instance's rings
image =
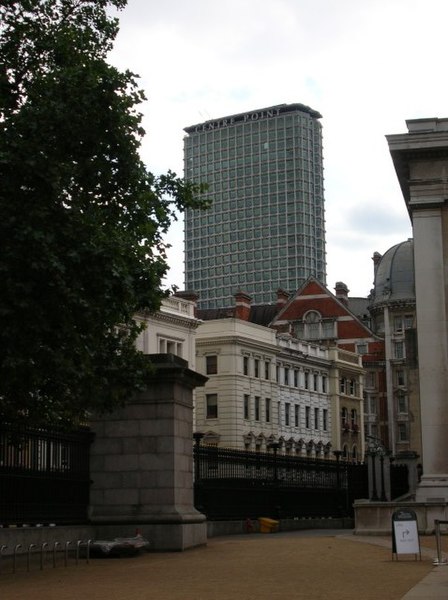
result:
[[(300, 102), (322, 115), (327, 286), (373, 285), (412, 237), (386, 134), (448, 116), (446, 0), (129, 0), (111, 61), (141, 77), (142, 158), (183, 174), (184, 127)], [(182, 222), (168, 284), (183, 289)]]

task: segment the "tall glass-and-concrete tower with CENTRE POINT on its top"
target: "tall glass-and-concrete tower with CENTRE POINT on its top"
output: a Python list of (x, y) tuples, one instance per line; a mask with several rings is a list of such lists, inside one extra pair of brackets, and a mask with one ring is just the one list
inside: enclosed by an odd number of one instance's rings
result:
[(212, 207), (185, 214), (185, 288), (200, 308), (326, 283), (321, 115), (281, 104), (185, 128), (184, 175)]

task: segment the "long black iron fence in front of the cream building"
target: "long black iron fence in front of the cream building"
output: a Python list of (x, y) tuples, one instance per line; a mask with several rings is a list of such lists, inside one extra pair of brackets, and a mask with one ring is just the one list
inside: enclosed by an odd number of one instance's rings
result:
[(353, 516), (353, 501), (368, 498), (367, 466), (194, 447), (195, 506), (209, 519)]

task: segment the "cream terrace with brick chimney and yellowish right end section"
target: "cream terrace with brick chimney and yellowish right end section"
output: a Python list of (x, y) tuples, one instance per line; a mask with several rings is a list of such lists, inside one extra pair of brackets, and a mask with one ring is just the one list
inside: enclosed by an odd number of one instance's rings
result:
[[(246, 294), (233, 309), (199, 311), (196, 431), (220, 446), (347, 459), (364, 453), (360, 356), (251, 321)], [(252, 314), (252, 316), (251, 316)]]

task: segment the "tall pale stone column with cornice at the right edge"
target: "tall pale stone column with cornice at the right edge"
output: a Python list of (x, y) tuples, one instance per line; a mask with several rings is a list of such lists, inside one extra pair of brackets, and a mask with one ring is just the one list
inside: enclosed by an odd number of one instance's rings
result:
[(387, 136), (412, 220), (423, 477), (419, 502), (448, 502), (448, 119)]

